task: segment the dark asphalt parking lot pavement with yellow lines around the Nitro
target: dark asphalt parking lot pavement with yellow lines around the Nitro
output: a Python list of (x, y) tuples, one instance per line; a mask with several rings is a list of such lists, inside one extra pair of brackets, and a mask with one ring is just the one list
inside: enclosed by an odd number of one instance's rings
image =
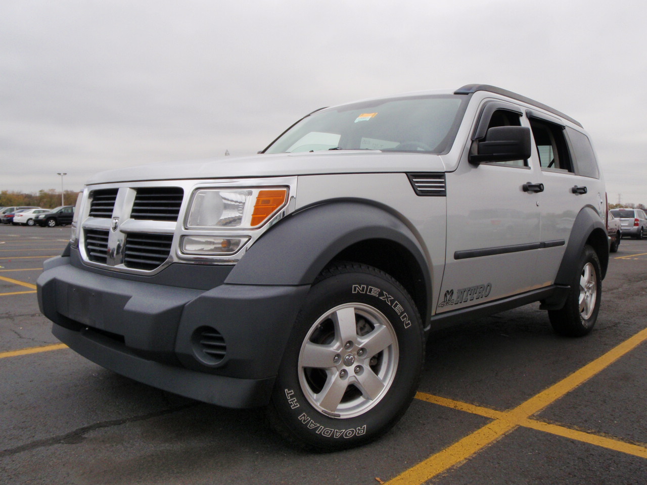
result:
[(538, 304), (432, 334), (386, 436), (305, 453), (238, 411), (159, 391), (58, 343), (36, 279), (69, 228), (0, 226), (0, 484), (647, 483), (647, 240), (611, 254), (598, 322)]

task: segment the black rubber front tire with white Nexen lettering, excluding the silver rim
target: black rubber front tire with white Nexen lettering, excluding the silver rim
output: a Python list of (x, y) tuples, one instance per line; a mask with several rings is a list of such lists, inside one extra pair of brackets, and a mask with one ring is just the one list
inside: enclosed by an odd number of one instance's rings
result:
[[(357, 446), (388, 431), (411, 403), (424, 356), (422, 325), (411, 298), (387, 278), (366, 272), (336, 274), (314, 285), (307, 295), (272, 395), (274, 411), (298, 441), (320, 449)], [(298, 358), (314, 322), (344, 303), (370, 305), (389, 319), (398, 339), (399, 362), (391, 387), (380, 402), (363, 415), (333, 418), (314, 409), (303, 394)]]

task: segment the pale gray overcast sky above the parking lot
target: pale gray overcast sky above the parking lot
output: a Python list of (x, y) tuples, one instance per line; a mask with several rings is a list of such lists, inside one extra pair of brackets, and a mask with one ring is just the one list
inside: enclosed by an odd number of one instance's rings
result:
[(647, 204), (647, 3), (2, 0), (0, 190), (250, 155), (313, 109), (515, 91), (589, 131), (609, 202)]

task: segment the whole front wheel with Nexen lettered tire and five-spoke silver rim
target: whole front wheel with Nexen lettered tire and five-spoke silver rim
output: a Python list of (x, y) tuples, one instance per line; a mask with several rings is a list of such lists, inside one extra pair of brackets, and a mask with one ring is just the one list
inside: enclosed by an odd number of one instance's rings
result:
[(419, 313), (395, 279), (364, 264), (334, 264), (296, 318), (270, 423), (293, 444), (318, 451), (375, 440), (411, 404), (423, 344)]

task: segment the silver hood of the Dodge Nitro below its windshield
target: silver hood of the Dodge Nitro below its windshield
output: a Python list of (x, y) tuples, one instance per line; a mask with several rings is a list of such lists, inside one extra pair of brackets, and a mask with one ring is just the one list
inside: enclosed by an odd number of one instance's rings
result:
[(229, 156), (191, 162), (161, 162), (105, 171), (87, 183), (199, 178), (249, 178), (316, 175), (322, 173), (443, 172), (440, 155), (381, 151), (317, 151), (278, 153), (241, 158)]

